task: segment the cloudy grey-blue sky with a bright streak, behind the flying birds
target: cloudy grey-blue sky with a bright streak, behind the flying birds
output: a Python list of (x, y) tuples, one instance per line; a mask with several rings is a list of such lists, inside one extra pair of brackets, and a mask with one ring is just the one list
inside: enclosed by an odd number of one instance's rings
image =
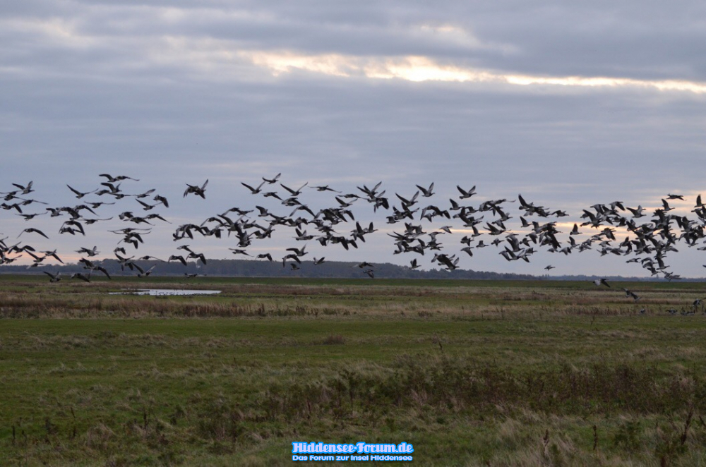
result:
[[(393, 199), (433, 182), (433, 201), (447, 206), (457, 184), (477, 186), (475, 204), (522, 193), (569, 212), (558, 219), (565, 233), (595, 203), (654, 210), (668, 193), (684, 195), (674, 205), (693, 217), (702, 190), (702, 2), (1, 4), (0, 191), (31, 180), (37, 200), (58, 206), (78, 202), (66, 184), (88, 191), (104, 181), (99, 174), (138, 178), (123, 188), (155, 188), (170, 201), (155, 211), (172, 222), (155, 225), (140, 255), (175, 253), (176, 225), (265, 205), (241, 182), (257, 186), (277, 173), (290, 187), (328, 184), (344, 193), (382, 181)], [(206, 179), (206, 200), (183, 197), (186, 183)], [(335, 205), (331, 193), (314, 190), (302, 200)], [(514, 206), (513, 222), (522, 214)], [(139, 206), (121, 200), (104, 212), (128, 209)], [(393, 255), (385, 233), (401, 229), (385, 226), (385, 213), (364, 202), (355, 212), (376, 222), (374, 238), (352, 252), (310, 242), (312, 253), (412, 259)], [(51, 231), (50, 241), (32, 233), (20, 240), (58, 248), (68, 260), (78, 259), (78, 246), (94, 244), (110, 257), (116, 236), (107, 230), (125, 226), (115, 218), (91, 226), (90, 238), (69, 238), (48, 215), (25, 223), (4, 210), (0, 219), (8, 242), (28, 226)], [(449, 254), (458, 253), (461, 235), (444, 238)], [(252, 251), (281, 254), (293, 242), (299, 245), (280, 232)], [(227, 240), (192, 245), (208, 257), (232, 257), (227, 248), (234, 247)], [(670, 258), (674, 272), (702, 277), (703, 252), (679, 249)], [(506, 262), (493, 247), (462, 256), (460, 265), (649, 275), (625, 260), (588, 251)]]

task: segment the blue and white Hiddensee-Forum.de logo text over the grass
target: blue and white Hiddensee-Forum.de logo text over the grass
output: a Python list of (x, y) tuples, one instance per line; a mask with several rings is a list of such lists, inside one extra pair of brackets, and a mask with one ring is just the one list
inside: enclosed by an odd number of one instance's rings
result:
[(412, 444), (292, 442), (292, 461), (411, 461)]

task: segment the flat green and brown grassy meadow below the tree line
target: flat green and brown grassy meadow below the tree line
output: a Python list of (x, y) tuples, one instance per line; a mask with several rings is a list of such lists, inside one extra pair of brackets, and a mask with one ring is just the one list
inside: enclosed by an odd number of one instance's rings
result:
[(704, 284), (611, 285), (0, 276), (0, 465), (706, 465)]

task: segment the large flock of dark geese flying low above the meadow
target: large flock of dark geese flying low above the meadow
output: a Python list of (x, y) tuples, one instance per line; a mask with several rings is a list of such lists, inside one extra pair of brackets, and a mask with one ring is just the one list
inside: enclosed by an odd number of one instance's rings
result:
[[(419, 261), (422, 257), (431, 257), (431, 264), (444, 269), (457, 269), (460, 255), (472, 257), (477, 250), (488, 247), (498, 248), (498, 255), (508, 262), (530, 262), (532, 255), (540, 249), (563, 255), (597, 250), (600, 255), (628, 257), (626, 262), (640, 265), (652, 276), (673, 280), (681, 277), (669, 270), (666, 256), (669, 252), (676, 251), (679, 242), (686, 243), (688, 248), (706, 250), (706, 206), (702, 204), (700, 195), (690, 211), (695, 214), (695, 219), (671, 212), (674, 208), (670, 203), (674, 200), (684, 201), (682, 195), (667, 195), (662, 200), (662, 207), (654, 210), (651, 216), (642, 206), (628, 207), (621, 201), (592, 205), (582, 211), (580, 219), (583, 219), (583, 222), (573, 224), (568, 241), (562, 243), (558, 236), (561, 232), (558, 231), (556, 219), (567, 217), (569, 214), (527, 201), (522, 195), (517, 195), (516, 200), (498, 199), (473, 203), (472, 198), (477, 196), (476, 187), (466, 189), (456, 186), (458, 195), (441, 205), (431, 204), (429, 201), (435, 195), (433, 183), (429, 186), (415, 186), (412, 195), (395, 193), (394, 196), (389, 196), (385, 195), (382, 182), (371, 188), (366, 185), (358, 186), (353, 193), (342, 193), (328, 185), (309, 186), (309, 183), (304, 183), (299, 188), (291, 188), (280, 182), (280, 176), (281, 174), (271, 178), (262, 177), (262, 181), (258, 183), (243, 182), (241, 185), (246, 193), (254, 197), (277, 200), (287, 209), (288, 214), (278, 214), (275, 210), (261, 205), (255, 205), (249, 210), (231, 207), (225, 212), (206, 217), (200, 224), (177, 226), (172, 233), (172, 240), (178, 244), (193, 240), (197, 235), (203, 238), (229, 238), (233, 246), (228, 250), (233, 255), (274, 261), (272, 253), (253, 256), (249, 253), (249, 248), (253, 243), (271, 238), (277, 229), (291, 229), (295, 242), (316, 241), (324, 247), (356, 249), (366, 241), (366, 236), (378, 231), (373, 222), (361, 224), (355, 217), (353, 207), (366, 204), (373, 212), (384, 211), (387, 224), (396, 226), (391, 228), (392, 233), (387, 233), (393, 238), (393, 254), (413, 255), (414, 258), (409, 261), (411, 269), (421, 267)], [(136, 178), (111, 174), (100, 174), (100, 177), (104, 179), (99, 182), (97, 188), (89, 191), (66, 185), (79, 200), (78, 204), (73, 206), (43, 207), (48, 206), (47, 202), (31, 198), (35, 189), (30, 181), (24, 185), (12, 183), (13, 189), (1, 192), (3, 202), (0, 207), (28, 222), (44, 215), (61, 217), (59, 220), (63, 222), (58, 229), (60, 235), (85, 237), (92, 224), (114, 218), (100, 216), (100, 213), (107, 209), (105, 206), (131, 202), (131, 210), (116, 214), (117, 219), (126, 226), (109, 230), (119, 236), (118, 245), (112, 255), (121, 269), (129, 269), (139, 277), (146, 277), (155, 271), (160, 262), (180, 262), (186, 266), (193, 260), (206, 264), (205, 255), (193, 250), (189, 244), (175, 246), (176, 251), (163, 260), (151, 255), (138, 257), (133, 253), (145, 243), (145, 237), (152, 232), (156, 222), (169, 222), (162, 214), (152, 212), (168, 209), (169, 201), (163, 195), (155, 193), (154, 188), (137, 193), (124, 190), (124, 184), (139, 182)], [(200, 184), (186, 184), (184, 198), (194, 196), (205, 200), (207, 188), (208, 180)], [(329, 193), (333, 200), (328, 203), (328, 207), (314, 212), (301, 200), (305, 192), (313, 193), (311, 190)], [(517, 205), (513, 204), (515, 202)], [(506, 223), (513, 219), (510, 214), (510, 208), (513, 206), (517, 206), (519, 211), (521, 229), (509, 229), (506, 226)], [(444, 225), (435, 226), (438, 220)], [(460, 223), (460, 227), (450, 225), (453, 223)], [(618, 228), (627, 233), (622, 241), (616, 238)], [(444, 248), (441, 240), (444, 235), (457, 229), (467, 235), (461, 238), (456, 253), (445, 253), (448, 248)], [(582, 233), (590, 235), (582, 241), (577, 241), (577, 236)], [(30, 245), (28, 239), (33, 236), (49, 239), (47, 233), (35, 227), (23, 229), (13, 239), (10, 236), (1, 238), (0, 265), (9, 264), (25, 255), (31, 258), (28, 266), (30, 268), (43, 266), (47, 260), (56, 260), (63, 264), (56, 249), (40, 250)], [(100, 254), (97, 246), (84, 246), (76, 250), (76, 253), (81, 255), (78, 264), (83, 270), (74, 273), (72, 278), (90, 281), (92, 274), (97, 273), (109, 277), (107, 270), (95, 261), (95, 257)], [(306, 243), (301, 247), (286, 248), (281, 257), (282, 266), (291, 270), (299, 269), (308, 253)], [(321, 265), (324, 260), (325, 257), (314, 257), (312, 263)], [(155, 264), (145, 268), (138, 264), (138, 261), (153, 261)], [(370, 263), (362, 262), (358, 266), (361, 274), (371, 278), (375, 276), (375, 269)], [(554, 266), (548, 265), (544, 269), (549, 271), (554, 269)], [(44, 273), (49, 276), (50, 281), (61, 280), (61, 274), (47, 271)], [(604, 279), (599, 279), (597, 285), (608, 284)], [(631, 296), (629, 291), (628, 296)], [(637, 296), (632, 297), (635, 301), (638, 300)]]

